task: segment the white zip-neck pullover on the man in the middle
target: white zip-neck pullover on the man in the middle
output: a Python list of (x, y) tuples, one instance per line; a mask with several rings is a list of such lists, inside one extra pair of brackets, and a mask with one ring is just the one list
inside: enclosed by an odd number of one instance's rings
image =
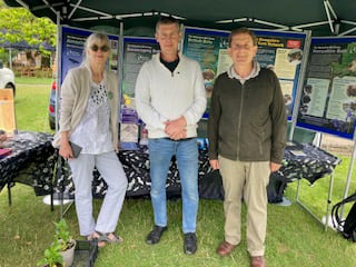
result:
[(146, 123), (149, 138), (168, 137), (165, 121), (185, 117), (187, 138), (197, 136), (197, 122), (207, 105), (204, 79), (197, 61), (179, 56), (170, 72), (155, 55), (146, 61), (136, 80), (136, 108)]

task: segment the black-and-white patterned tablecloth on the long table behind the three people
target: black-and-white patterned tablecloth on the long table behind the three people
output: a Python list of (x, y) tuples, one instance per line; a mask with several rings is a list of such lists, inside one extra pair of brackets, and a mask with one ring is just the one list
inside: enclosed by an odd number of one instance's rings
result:
[[(295, 151), (303, 152), (305, 156), (296, 156)], [(295, 154), (294, 154), (295, 152)], [(122, 162), (125, 172), (128, 177), (128, 197), (148, 196), (150, 190), (149, 158), (145, 147), (139, 150), (119, 151), (118, 157)], [(267, 188), (269, 202), (283, 201), (284, 190), (288, 182), (305, 178), (310, 184), (315, 180), (332, 174), (339, 164), (339, 159), (320, 148), (309, 144), (296, 144), (288, 146), (285, 151), (285, 159), (279, 171), (271, 174), (270, 182)], [(65, 192), (73, 194), (68, 166), (61, 166), (61, 176), (58, 188)], [(107, 191), (107, 185), (98, 171), (93, 172), (92, 192), (96, 197), (102, 197)], [(208, 151), (199, 151), (199, 196), (208, 199), (224, 199), (221, 177), (218, 171), (212, 171), (209, 166)], [(40, 194), (38, 191), (38, 194)], [(176, 160), (172, 159), (167, 178), (167, 196), (180, 196), (179, 174)]]

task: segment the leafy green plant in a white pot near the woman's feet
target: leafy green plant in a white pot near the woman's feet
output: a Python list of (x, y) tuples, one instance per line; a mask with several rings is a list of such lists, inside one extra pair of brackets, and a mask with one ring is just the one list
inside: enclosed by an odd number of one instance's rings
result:
[(75, 258), (76, 240), (71, 238), (65, 219), (60, 219), (53, 224), (56, 226), (55, 239), (60, 246), (60, 254), (62, 255), (65, 266), (70, 267)]

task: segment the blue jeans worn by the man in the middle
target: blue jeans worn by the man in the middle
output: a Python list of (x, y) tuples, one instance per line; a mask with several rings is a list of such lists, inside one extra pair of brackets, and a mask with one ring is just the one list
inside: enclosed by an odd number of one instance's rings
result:
[(166, 181), (171, 157), (176, 155), (181, 185), (182, 231), (195, 233), (199, 204), (197, 139), (149, 139), (148, 148), (155, 224), (167, 226)]

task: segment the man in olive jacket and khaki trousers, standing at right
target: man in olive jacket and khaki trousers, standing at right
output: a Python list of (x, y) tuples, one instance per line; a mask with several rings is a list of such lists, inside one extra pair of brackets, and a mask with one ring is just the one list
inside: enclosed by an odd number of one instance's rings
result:
[(247, 205), (247, 250), (253, 267), (266, 266), (267, 185), (280, 168), (286, 146), (286, 108), (276, 75), (254, 60), (257, 39), (246, 28), (231, 31), (234, 65), (214, 85), (208, 122), (209, 158), (225, 190), (226, 256), (240, 243), (241, 199)]

